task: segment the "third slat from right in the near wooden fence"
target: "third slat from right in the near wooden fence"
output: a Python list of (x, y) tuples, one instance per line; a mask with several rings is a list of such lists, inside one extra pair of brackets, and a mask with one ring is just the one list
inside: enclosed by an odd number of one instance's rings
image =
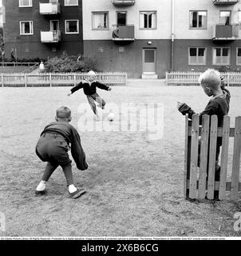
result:
[(207, 181), (207, 198), (208, 199), (214, 198), (217, 130), (218, 130), (218, 118), (216, 115), (212, 115), (211, 128), (210, 128), (209, 166), (208, 166), (208, 181)]

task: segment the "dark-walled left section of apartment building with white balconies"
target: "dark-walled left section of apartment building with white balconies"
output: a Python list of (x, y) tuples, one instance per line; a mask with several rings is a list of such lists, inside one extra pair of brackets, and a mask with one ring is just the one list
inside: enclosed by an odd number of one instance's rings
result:
[(3, 0), (5, 56), (50, 58), (83, 54), (81, 0)]

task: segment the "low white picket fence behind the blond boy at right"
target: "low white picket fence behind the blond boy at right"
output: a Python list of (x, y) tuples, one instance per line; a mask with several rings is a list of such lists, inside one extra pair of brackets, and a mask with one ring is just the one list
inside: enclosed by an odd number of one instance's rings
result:
[[(166, 84), (168, 86), (197, 86), (202, 72), (167, 72)], [(220, 73), (227, 86), (241, 86), (241, 72)]]

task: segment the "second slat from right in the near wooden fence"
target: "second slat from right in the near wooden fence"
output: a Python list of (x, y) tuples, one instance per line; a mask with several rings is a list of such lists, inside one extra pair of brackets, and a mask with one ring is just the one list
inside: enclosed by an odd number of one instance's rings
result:
[(219, 183), (219, 199), (226, 199), (226, 179), (227, 179), (227, 159), (228, 159), (228, 145), (230, 135), (230, 117), (223, 118), (223, 139), (222, 139), (222, 154), (221, 154), (221, 170)]

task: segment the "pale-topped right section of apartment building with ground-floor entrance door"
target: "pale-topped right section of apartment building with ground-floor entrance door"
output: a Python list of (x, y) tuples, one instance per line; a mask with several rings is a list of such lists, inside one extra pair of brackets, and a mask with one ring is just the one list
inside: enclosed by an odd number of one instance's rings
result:
[(85, 54), (131, 78), (241, 68), (239, 0), (83, 0)]

